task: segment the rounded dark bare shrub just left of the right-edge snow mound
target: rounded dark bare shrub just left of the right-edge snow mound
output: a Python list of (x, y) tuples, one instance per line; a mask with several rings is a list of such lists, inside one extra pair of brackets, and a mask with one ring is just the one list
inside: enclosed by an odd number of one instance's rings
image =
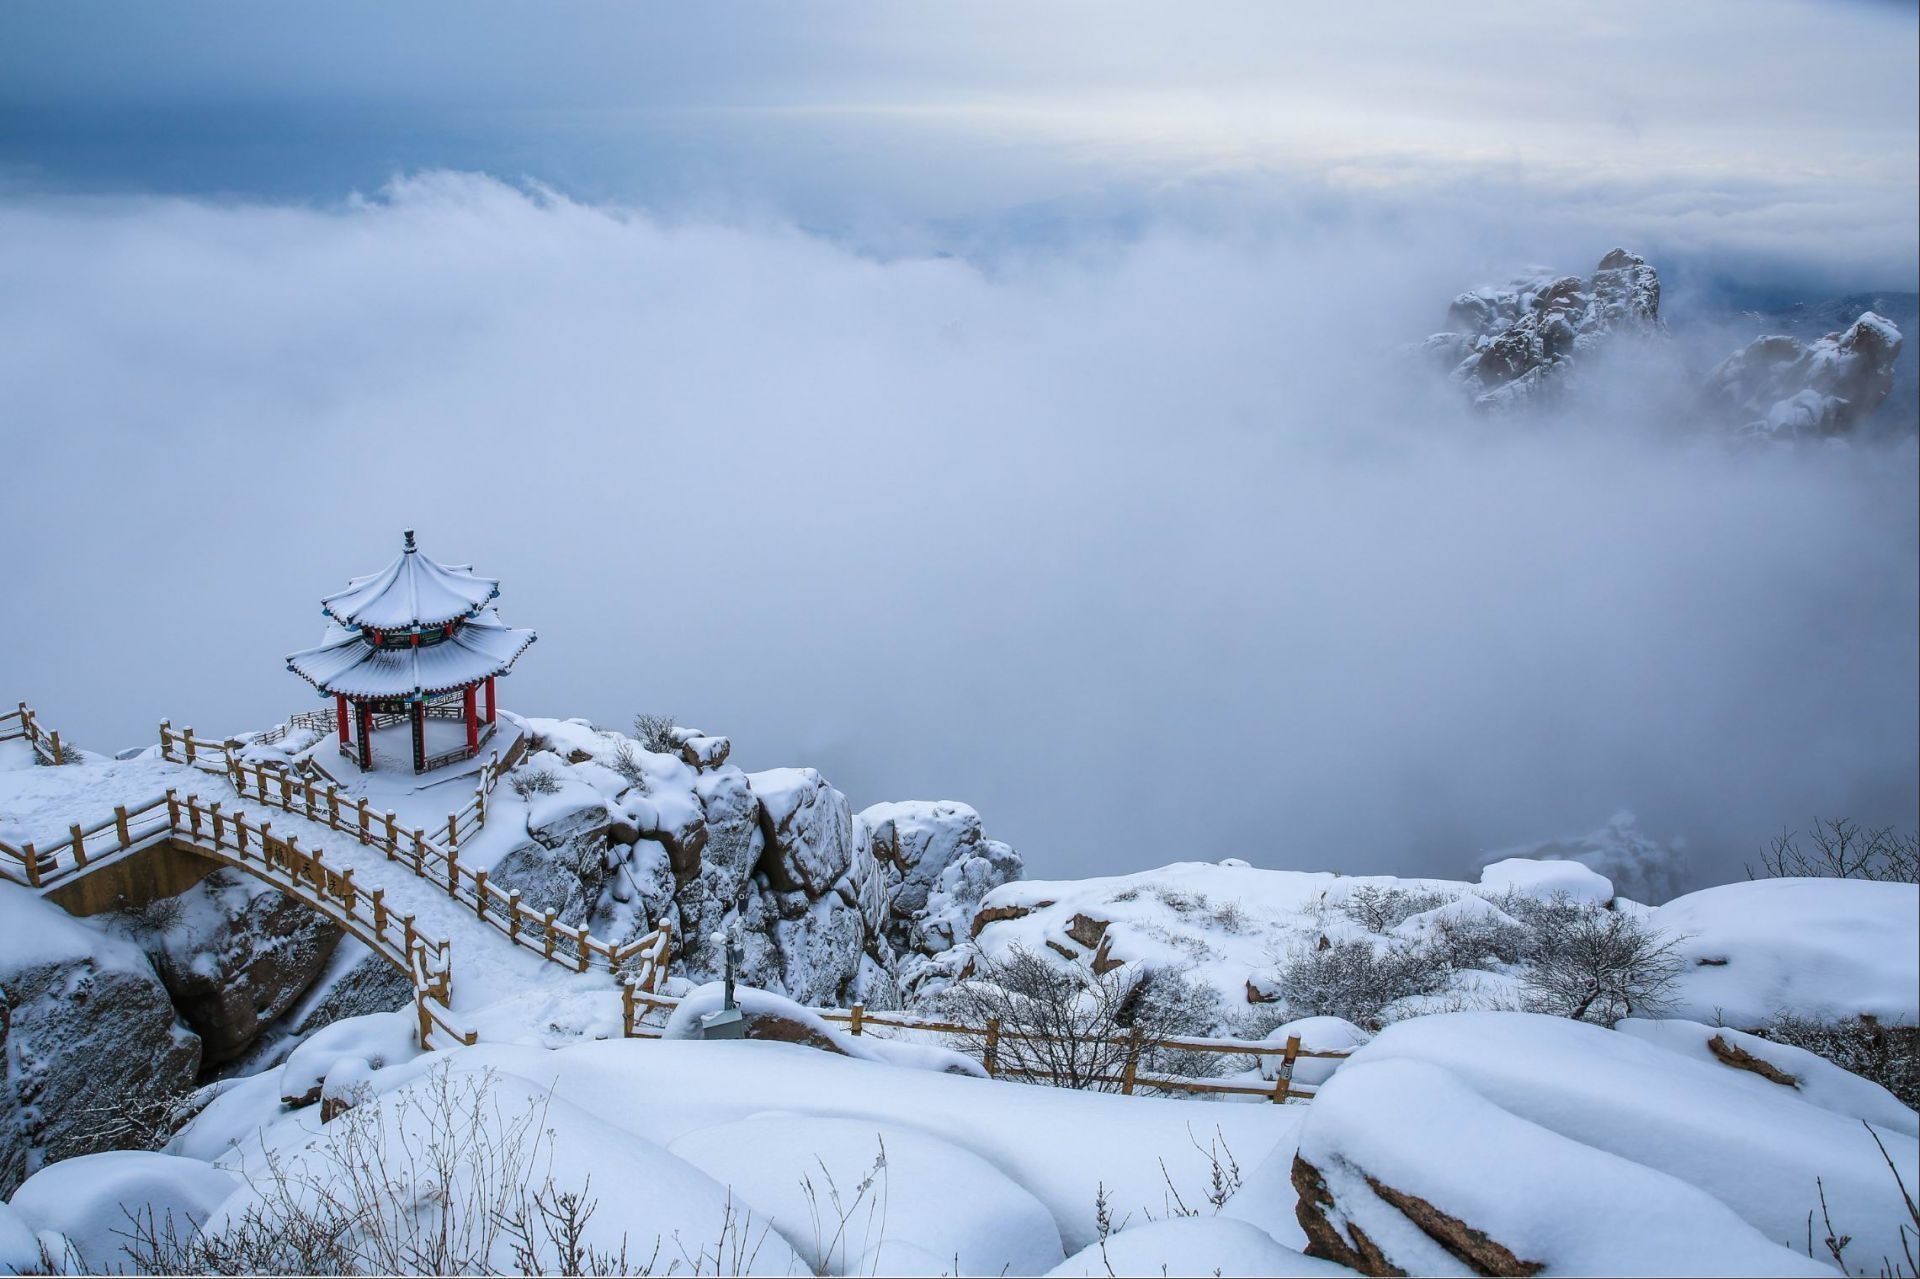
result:
[(1565, 893), (1517, 897), (1511, 906), (1532, 928), (1521, 987), (1534, 1012), (1613, 1026), (1668, 1008), (1682, 968), (1678, 937)]

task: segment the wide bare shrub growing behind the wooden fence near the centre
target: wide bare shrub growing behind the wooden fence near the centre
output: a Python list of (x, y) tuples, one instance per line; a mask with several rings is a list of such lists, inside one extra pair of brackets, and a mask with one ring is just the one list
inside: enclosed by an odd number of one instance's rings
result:
[(1002, 958), (977, 956), (973, 976), (941, 991), (935, 1008), (975, 1027), (952, 1037), (954, 1047), (973, 1056), (985, 1056), (985, 1027), (998, 1024), (995, 1074), (1002, 1079), (1114, 1093), (1135, 1054), (1146, 1072), (1219, 1070), (1213, 1062), (1187, 1060), (1215, 1054), (1135, 1045), (1206, 1033), (1219, 1014), (1210, 989), (1165, 970), (1094, 974), (1016, 945)]

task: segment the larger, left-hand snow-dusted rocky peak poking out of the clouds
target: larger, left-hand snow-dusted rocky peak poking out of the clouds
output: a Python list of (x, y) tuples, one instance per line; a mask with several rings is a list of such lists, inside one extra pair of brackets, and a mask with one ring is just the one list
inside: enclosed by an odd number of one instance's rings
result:
[(1659, 275), (1644, 257), (1613, 250), (1586, 280), (1536, 269), (1457, 296), (1448, 332), (1423, 350), (1478, 407), (1515, 409), (1563, 390), (1597, 346), (1659, 332)]

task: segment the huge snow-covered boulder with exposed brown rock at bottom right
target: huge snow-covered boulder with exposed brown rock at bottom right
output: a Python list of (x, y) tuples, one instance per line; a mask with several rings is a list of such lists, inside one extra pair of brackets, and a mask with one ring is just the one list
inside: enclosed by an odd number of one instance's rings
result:
[[(1920, 1143), (1878, 1137), (1912, 1185)], [(1532, 1014), (1382, 1031), (1313, 1100), (1292, 1177), (1309, 1252), (1369, 1273), (1830, 1273), (1788, 1246), (1822, 1187), (1868, 1266), (1905, 1216), (1859, 1120)]]

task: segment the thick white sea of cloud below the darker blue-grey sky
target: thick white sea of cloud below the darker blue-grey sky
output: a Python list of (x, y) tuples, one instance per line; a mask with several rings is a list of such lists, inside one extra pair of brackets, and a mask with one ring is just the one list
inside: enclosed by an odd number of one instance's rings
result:
[(1459, 872), (1632, 807), (1724, 878), (1910, 822), (1912, 446), (1728, 451), (1686, 353), (1471, 421), (1394, 357), (1471, 238), (985, 269), (459, 175), (13, 200), (0, 689), (102, 747), (269, 722), (413, 524), (540, 628), (509, 705), (968, 799), (1043, 874)]

